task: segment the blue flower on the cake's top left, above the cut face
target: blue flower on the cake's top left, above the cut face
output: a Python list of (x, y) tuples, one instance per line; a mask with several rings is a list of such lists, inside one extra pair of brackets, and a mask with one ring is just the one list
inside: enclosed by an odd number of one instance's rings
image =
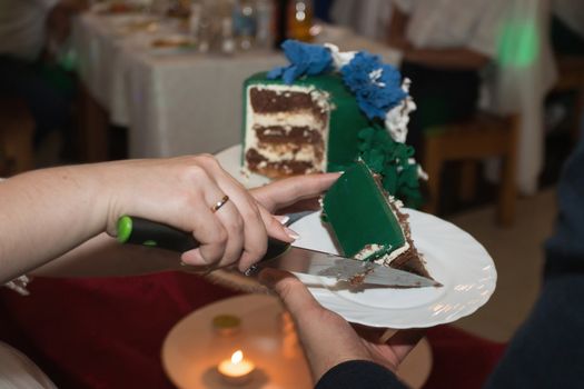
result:
[(315, 76), (328, 71), (333, 64), (330, 51), (319, 44), (286, 40), (281, 48), (290, 64), (273, 69), (267, 74), (268, 79), (281, 77), (285, 83), (290, 84), (301, 76)]

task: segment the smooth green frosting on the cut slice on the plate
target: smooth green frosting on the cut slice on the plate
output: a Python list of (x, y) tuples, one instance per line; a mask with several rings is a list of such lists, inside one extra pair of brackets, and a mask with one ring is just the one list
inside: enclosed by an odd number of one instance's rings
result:
[(365, 162), (357, 161), (323, 198), (324, 213), (343, 253), (354, 257), (367, 245), (383, 249), (367, 260), (389, 253), (405, 243), (397, 217)]

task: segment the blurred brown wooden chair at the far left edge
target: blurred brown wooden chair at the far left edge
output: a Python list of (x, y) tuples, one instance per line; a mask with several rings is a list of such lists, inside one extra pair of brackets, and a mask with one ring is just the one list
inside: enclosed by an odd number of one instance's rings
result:
[(20, 99), (0, 98), (0, 176), (34, 168), (34, 120)]

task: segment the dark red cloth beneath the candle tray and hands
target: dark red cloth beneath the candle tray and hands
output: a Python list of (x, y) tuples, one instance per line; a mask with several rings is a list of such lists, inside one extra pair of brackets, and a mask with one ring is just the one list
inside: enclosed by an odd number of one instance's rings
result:
[[(236, 295), (198, 276), (43, 279), (21, 297), (0, 288), (0, 339), (27, 353), (59, 388), (172, 388), (160, 361), (182, 317)], [(425, 388), (479, 388), (501, 357), (494, 343), (449, 326), (428, 330)]]

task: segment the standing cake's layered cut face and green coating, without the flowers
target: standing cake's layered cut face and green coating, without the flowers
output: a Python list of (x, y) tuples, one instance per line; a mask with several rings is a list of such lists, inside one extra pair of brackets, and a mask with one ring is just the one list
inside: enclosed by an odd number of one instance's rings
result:
[(358, 154), (358, 130), (367, 126), (335, 74), (293, 84), (256, 74), (244, 86), (244, 168), (269, 178), (350, 163)]

